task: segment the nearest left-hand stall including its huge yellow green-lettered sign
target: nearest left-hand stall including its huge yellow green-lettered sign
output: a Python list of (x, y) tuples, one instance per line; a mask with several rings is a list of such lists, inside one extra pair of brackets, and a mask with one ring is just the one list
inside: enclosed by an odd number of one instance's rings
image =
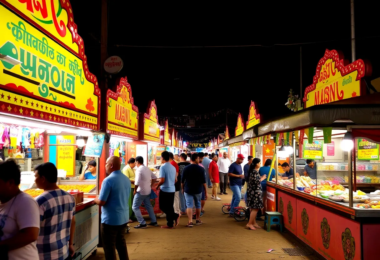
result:
[[(99, 164), (104, 133), (95, 132), (98, 81), (88, 70), (70, 1), (61, 3), (0, 0), (0, 129), (6, 140), (0, 155), (17, 160), (21, 189), (34, 197), (42, 191), (35, 189), (33, 169), (43, 162), (57, 166), (59, 187), (78, 191), (74, 245), (84, 259), (96, 250), (99, 223), (92, 203), (98, 169), (85, 173), (84, 166)], [(90, 179), (79, 180), (82, 173)]]

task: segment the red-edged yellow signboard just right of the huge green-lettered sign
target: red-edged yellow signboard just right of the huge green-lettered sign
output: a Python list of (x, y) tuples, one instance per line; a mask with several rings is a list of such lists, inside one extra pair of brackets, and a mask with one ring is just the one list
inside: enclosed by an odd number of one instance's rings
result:
[(121, 78), (116, 93), (107, 91), (107, 132), (138, 139), (138, 114), (127, 77)]

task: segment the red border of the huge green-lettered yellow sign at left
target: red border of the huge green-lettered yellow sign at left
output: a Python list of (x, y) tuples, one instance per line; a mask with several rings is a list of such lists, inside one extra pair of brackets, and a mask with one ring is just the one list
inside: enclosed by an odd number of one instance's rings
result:
[[(75, 52), (73, 49), (71, 49), (66, 44), (64, 44), (62, 41), (60, 41), (57, 37), (55, 37), (54, 35), (52, 35), (50, 32), (46, 31), (40, 25), (36, 24), (32, 19), (30, 19), (29, 17), (27, 17), (24, 13), (22, 13), (20, 10), (18, 10), (17, 8), (15, 8), (9, 2), (5, 2), (4, 0), (0, 0), (0, 2), (3, 5), (5, 5), (8, 8), (10, 8), (11, 10), (13, 10), (14, 12), (16, 12), (19, 16), (21, 16), (23, 19), (25, 19), (26, 21), (28, 21), (30, 24), (34, 25), (38, 30), (40, 30), (41, 32), (43, 32), (44, 34), (46, 34), (47, 36), (49, 36), (53, 40), (57, 41), (58, 44), (60, 44), (61, 46), (63, 46), (68, 51), (72, 52), (74, 55), (76, 55), (77, 57), (79, 57), (82, 60), (82, 68), (83, 68), (83, 71), (85, 72), (85, 77), (86, 77), (86, 79), (88, 81), (90, 81), (91, 83), (94, 84), (94, 92), (93, 92), (93, 94), (98, 97), (98, 124), (96, 125), (95, 129), (92, 128), (92, 127), (84, 127), (84, 128), (89, 128), (89, 129), (93, 129), (93, 130), (99, 130), (100, 129), (100, 89), (99, 89), (99, 86), (98, 86), (98, 79), (97, 79), (97, 77), (95, 75), (93, 75), (92, 73), (90, 73), (90, 71), (88, 70), (88, 67), (87, 67), (87, 56), (86, 56), (86, 54), (84, 52), (83, 39), (77, 33), (78, 32), (78, 30), (77, 30), (78, 28), (77, 28), (77, 25), (74, 23), (73, 10), (71, 8), (70, 1), (69, 0), (60, 0), (60, 4), (61, 4), (62, 9), (64, 9), (66, 11), (66, 13), (67, 13), (67, 18), (68, 18), (67, 19), (67, 21), (68, 21), (67, 22), (67, 28), (71, 32), (73, 43), (76, 43), (78, 45), (78, 52)], [(62, 103), (60, 104), (60, 106), (65, 107), (67, 109), (72, 109), (71, 106), (64, 105)], [(86, 111), (81, 111), (81, 112), (84, 113)]]

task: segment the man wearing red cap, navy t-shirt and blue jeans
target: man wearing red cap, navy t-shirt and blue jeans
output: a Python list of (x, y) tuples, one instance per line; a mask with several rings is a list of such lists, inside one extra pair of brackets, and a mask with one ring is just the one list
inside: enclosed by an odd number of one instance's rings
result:
[(232, 201), (231, 201), (231, 211), (230, 216), (234, 216), (235, 207), (239, 206), (241, 200), (241, 185), (244, 179), (243, 169), (241, 168), (241, 163), (244, 160), (242, 154), (237, 155), (236, 162), (231, 163), (230, 168), (228, 168), (228, 176), (230, 176), (230, 189), (232, 190)]

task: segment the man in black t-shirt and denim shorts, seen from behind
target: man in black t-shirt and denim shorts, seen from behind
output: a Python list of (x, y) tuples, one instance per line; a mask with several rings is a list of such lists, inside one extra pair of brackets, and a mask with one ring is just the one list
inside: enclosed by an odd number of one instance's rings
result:
[[(198, 163), (199, 155), (197, 153), (192, 154), (191, 164), (185, 166), (181, 176), (182, 193), (184, 193), (186, 198), (186, 211), (189, 220), (186, 227), (193, 227), (193, 201), (196, 214), (195, 225), (202, 224), (202, 220), (199, 219), (199, 216), (201, 214), (202, 186), (204, 190), (207, 190), (206, 171), (203, 167), (199, 166)], [(207, 199), (207, 194), (205, 194), (205, 199)]]

